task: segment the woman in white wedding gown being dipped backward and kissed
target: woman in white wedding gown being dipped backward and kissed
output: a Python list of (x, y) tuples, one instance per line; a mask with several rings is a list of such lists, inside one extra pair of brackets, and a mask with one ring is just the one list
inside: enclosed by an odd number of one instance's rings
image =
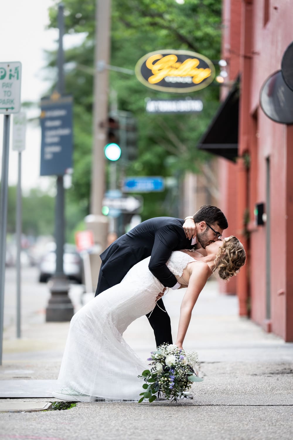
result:
[[(202, 250), (174, 251), (167, 266), (187, 287), (184, 294), (175, 345), (182, 348), (192, 309), (207, 279), (217, 270), (227, 280), (246, 260), (238, 238), (211, 242)], [(152, 312), (164, 286), (148, 270), (150, 257), (135, 264), (116, 286), (100, 293), (81, 308), (70, 323), (61, 369), (60, 391), (53, 397), (89, 402), (96, 400), (137, 401), (147, 368), (123, 339), (135, 319)], [(174, 293), (176, 294), (176, 293)]]

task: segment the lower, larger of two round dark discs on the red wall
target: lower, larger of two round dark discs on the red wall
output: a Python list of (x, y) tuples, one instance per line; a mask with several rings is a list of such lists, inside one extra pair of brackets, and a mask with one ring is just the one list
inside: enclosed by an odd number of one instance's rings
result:
[(260, 89), (260, 107), (273, 121), (293, 124), (293, 92), (283, 80), (281, 70), (264, 81)]

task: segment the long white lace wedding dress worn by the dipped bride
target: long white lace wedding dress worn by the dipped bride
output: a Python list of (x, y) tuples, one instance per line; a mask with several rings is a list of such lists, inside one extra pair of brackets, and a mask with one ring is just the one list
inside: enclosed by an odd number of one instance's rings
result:
[[(71, 387), (107, 400), (140, 398), (144, 382), (137, 376), (148, 364), (138, 358), (122, 335), (134, 319), (152, 311), (163, 290), (148, 270), (149, 260), (135, 264), (119, 284), (100, 293), (73, 316), (58, 377), (60, 388)], [(181, 276), (192, 261), (187, 253), (174, 251), (166, 264), (174, 275)]]

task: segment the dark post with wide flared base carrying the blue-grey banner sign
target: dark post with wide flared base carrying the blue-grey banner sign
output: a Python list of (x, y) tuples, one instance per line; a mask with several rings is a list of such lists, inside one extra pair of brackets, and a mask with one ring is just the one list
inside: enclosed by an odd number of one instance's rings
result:
[[(59, 27), (59, 47), (58, 47), (58, 92), (64, 92), (64, 72), (63, 72), (63, 35), (64, 35), (64, 6), (58, 5), (58, 27)], [(52, 277), (50, 287), (51, 298), (46, 308), (46, 322), (70, 321), (73, 316), (73, 305), (68, 296), (69, 282), (63, 272), (63, 252), (64, 252), (64, 186), (63, 175), (57, 176), (57, 194), (55, 208), (55, 241), (56, 241), (56, 272)]]

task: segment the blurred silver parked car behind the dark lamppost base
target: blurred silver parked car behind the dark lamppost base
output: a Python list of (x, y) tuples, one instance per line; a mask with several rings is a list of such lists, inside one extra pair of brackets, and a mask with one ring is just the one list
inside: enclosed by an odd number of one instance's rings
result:
[[(39, 281), (47, 282), (56, 271), (56, 245), (55, 243), (50, 243), (48, 245), (48, 252), (42, 257), (39, 269)], [(77, 252), (74, 245), (66, 243), (64, 245), (63, 254), (63, 271), (69, 279), (82, 283), (82, 259), (80, 254)]]

